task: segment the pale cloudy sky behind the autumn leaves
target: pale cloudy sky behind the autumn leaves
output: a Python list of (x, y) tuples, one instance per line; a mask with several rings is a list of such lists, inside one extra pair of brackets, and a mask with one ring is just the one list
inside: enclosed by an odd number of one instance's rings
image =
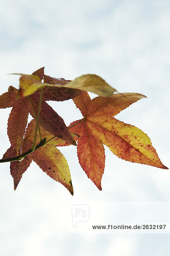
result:
[[(147, 99), (116, 118), (142, 129), (170, 167), (169, 0), (0, 0), (0, 6), (0, 93), (9, 85), (18, 88), (18, 77), (6, 74), (43, 66), (50, 76), (94, 73), (119, 92), (142, 93)], [(50, 104), (67, 125), (81, 117), (71, 100)], [(0, 110), (0, 157), (10, 145), (9, 113)], [(14, 191), (9, 163), (1, 164), (1, 255), (167, 254), (168, 230), (99, 233), (91, 225), (170, 223), (169, 170), (126, 162), (105, 148), (99, 191), (79, 166), (76, 147), (61, 151), (70, 166), (73, 197), (35, 163)], [(90, 215), (73, 227), (75, 204), (89, 205)]]

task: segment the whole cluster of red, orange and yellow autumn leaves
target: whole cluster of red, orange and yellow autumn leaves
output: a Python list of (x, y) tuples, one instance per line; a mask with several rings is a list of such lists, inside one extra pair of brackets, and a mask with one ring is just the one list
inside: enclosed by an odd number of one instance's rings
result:
[[(77, 146), (82, 169), (100, 190), (105, 168), (104, 145), (124, 160), (167, 169), (143, 131), (113, 117), (145, 98), (144, 95), (114, 93), (116, 89), (96, 75), (70, 81), (46, 76), (44, 68), (31, 75), (18, 75), (19, 90), (10, 86), (0, 96), (0, 108), (12, 107), (7, 129), (11, 147), (0, 162), (11, 162), (14, 189), (33, 160), (73, 195), (68, 163), (57, 146)], [(99, 96), (91, 100), (87, 91)], [(68, 99), (73, 99), (83, 118), (67, 127), (47, 101)], [(33, 119), (27, 124), (29, 113)]]

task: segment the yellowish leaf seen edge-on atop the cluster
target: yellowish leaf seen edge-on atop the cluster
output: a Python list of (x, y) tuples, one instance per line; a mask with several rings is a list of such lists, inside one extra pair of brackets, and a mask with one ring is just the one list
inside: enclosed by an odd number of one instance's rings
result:
[[(34, 74), (34, 75), (33, 75)], [(111, 96), (116, 91), (108, 83), (105, 82), (101, 77), (87, 74), (80, 76), (74, 81), (57, 79), (50, 76), (44, 75), (44, 83), (42, 83), (40, 77), (37, 75), (38, 72), (34, 72), (32, 75), (26, 75), (22, 73), (14, 73), (14, 75), (20, 75), (20, 90), (18, 97), (26, 97), (43, 87), (67, 87), (72, 89), (79, 89), (96, 93), (99, 96)]]

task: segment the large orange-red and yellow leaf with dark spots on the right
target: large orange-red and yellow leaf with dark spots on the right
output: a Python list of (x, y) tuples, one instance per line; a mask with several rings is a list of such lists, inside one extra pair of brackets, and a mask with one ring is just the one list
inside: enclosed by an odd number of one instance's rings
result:
[(145, 96), (139, 93), (124, 93), (91, 100), (88, 93), (83, 92), (73, 99), (84, 116), (69, 126), (70, 131), (80, 136), (75, 138), (78, 140), (79, 163), (100, 190), (105, 167), (103, 144), (124, 160), (168, 169), (161, 163), (149, 137), (143, 131), (113, 117), (142, 98)]

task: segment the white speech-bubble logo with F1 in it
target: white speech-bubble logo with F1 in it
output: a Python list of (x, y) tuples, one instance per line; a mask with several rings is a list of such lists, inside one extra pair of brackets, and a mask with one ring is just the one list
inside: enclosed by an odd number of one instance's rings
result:
[(90, 207), (88, 204), (74, 204), (71, 207), (73, 227), (76, 227), (79, 221), (88, 221)]

